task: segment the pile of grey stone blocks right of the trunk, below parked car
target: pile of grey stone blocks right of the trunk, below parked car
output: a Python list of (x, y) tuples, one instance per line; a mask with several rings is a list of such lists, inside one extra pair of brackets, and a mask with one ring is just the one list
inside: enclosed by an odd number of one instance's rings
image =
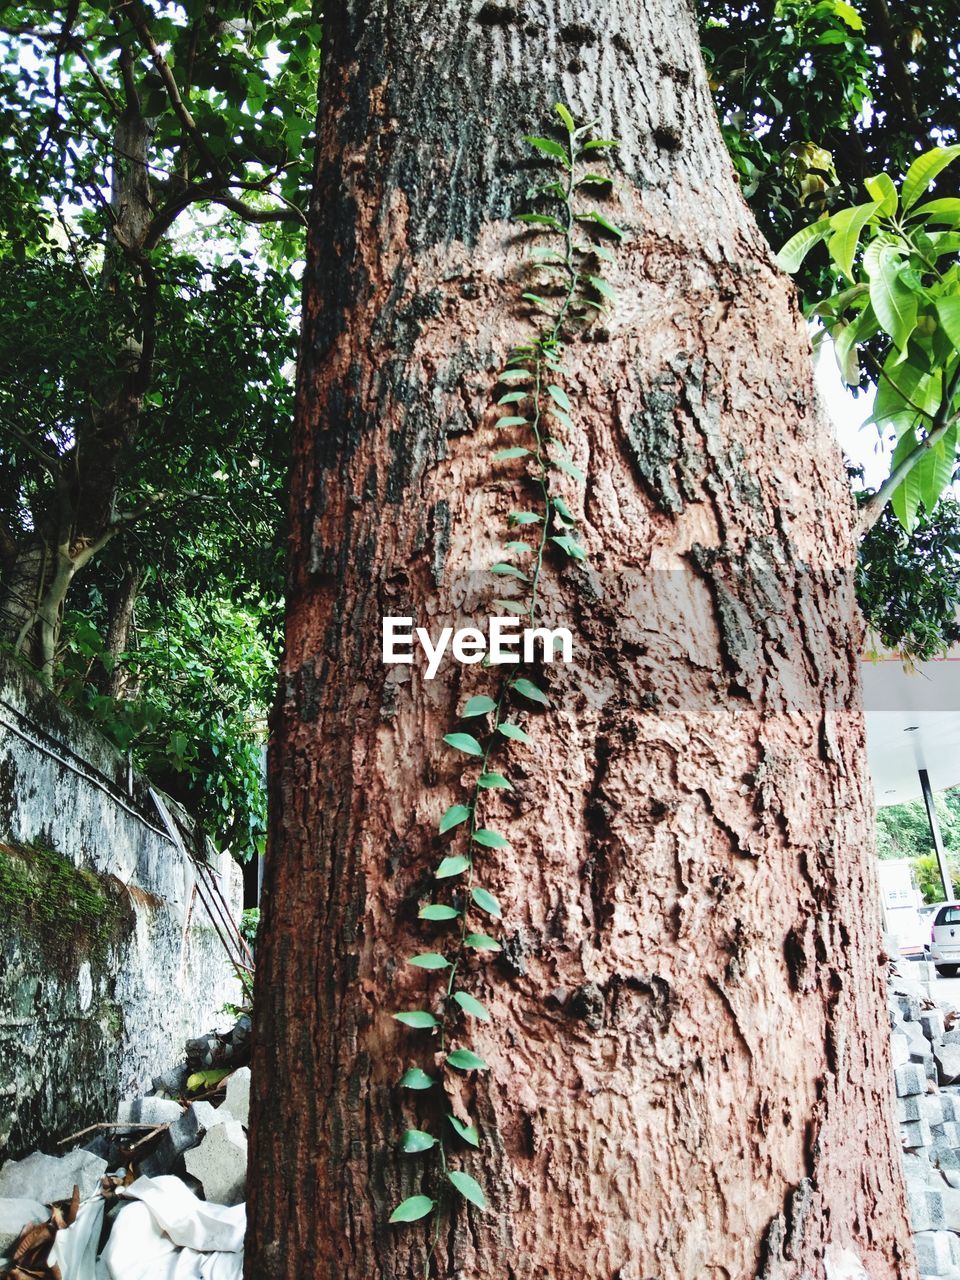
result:
[(920, 1275), (960, 1280), (960, 1015), (936, 991), (932, 965), (895, 966), (893, 1080)]

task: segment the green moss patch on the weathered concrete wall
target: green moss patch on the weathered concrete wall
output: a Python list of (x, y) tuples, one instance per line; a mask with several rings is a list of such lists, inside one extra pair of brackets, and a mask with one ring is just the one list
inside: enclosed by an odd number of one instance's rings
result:
[(58, 968), (102, 961), (125, 932), (123, 887), (38, 844), (0, 842), (0, 913), (36, 941)]

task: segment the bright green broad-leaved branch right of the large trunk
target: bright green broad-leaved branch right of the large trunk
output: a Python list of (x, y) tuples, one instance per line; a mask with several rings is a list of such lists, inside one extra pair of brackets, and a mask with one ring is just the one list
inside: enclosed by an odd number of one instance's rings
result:
[(822, 215), (781, 250), (797, 270), (824, 242), (831, 289), (810, 314), (835, 340), (845, 380), (860, 380), (859, 358), (874, 370), (873, 421), (896, 439), (891, 474), (867, 499), (887, 500), (909, 531), (932, 515), (956, 465), (960, 415), (960, 200), (931, 200), (929, 186), (960, 156), (934, 147), (910, 165), (900, 192), (887, 174), (864, 183), (868, 201)]

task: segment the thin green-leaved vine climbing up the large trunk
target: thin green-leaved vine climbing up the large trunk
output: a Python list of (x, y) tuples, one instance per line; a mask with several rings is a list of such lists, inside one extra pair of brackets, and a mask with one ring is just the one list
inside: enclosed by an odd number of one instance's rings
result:
[[(530, 319), (538, 333), (531, 342), (509, 353), (497, 375), (493, 397), (497, 406), (516, 406), (516, 411), (499, 417), (495, 425), (516, 433), (522, 440), (498, 449), (493, 461), (498, 466), (522, 463), (536, 506), (534, 511), (512, 512), (508, 517), (509, 526), (526, 526), (535, 540), (507, 541), (504, 552), (508, 558), (498, 559), (490, 567), (493, 575), (508, 580), (506, 590), (513, 591), (512, 595), (497, 599), (495, 605), (526, 620), (530, 626), (536, 621), (540, 577), (548, 554), (562, 553), (564, 559), (575, 562), (582, 561), (586, 554), (576, 539), (576, 517), (557, 492), (556, 483), (558, 472), (581, 483), (584, 480), (563, 444), (573, 412), (570, 388), (561, 383), (567, 376), (562, 362), (563, 344), (570, 329), (589, 323), (613, 298), (613, 289), (603, 278), (603, 270), (612, 256), (608, 242), (623, 237), (622, 230), (605, 214), (580, 202), (584, 189), (605, 189), (609, 186), (609, 179), (600, 174), (580, 172), (584, 155), (603, 151), (616, 143), (609, 138), (591, 140), (594, 125), (577, 127), (562, 104), (557, 105), (557, 115), (563, 125), (559, 141), (527, 137), (526, 142), (559, 172), (531, 187), (529, 195), (538, 207), (520, 214), (517, 220), (530, 227), (534, 234), (553, 233), (559, 243), (547, 251), (538, 246), (530, 256), (532, 288), (522, 298), (529, 303)], [(548, 212), (544, 206), (556, 211)], [(457, 731), (443, 737), (453, 751), (477, 762), (468, 797), (451, 805), (439, 820), (439, 833), (451, 837), (452, 842), (462, 841), (465, 850), (447, 854), (434, 870), (436, 881), (449, 883), (449, 904), (430, 902), (421, 905), (419, 911), (421, 920), (448, 924), (451, 941), (443, 951), (421, 952), (408, 959), (417, 968), (443, 972), (443, 986), (435, 996), (434, 1009), (393, 1016), (415, 1030), (429, 1032), (436, 1042), (431, 1048), (430, 1061), (442, 1061), (444, 1071), (488, 1070), (488, 1064), (462, 1041), (468, 1025), (466, 1019), (489, 1023), (490, 1011), (458, 983), (466, 977), (465, 961), (468, 954), (486, 956), (502, 950), (495, 937), (472, 927), (471, 915), (480, 911), (489, 920), (502, 920), (497, 899), (475, 877), (476, 858), (484, 850), (497, 851), (500, 856), (511, 852), (507, 838), (484, 826), (483, 809), (489, 804), (492, 791), (513, 790), (509, 778), (492, 768), (494, 754), (506, 750), (509, 742), (532, 742), (526, 730), (506, 718), (515, 703), (518, 708), (532, 704), (538, 710), (550, 705), (539, 684), (530, 676), (518, 673), (517, 667), (512, 666), (498, 678), (495, 694), (474, 695), (460, 713), (461, 719), (474, 722), (477, 736)], [(461, 1043), (457, 1048), (448, 1050), (448, 1041), (454, 1032)], [(399, 1083), (403, 1088), (426, 1094), (435, 1082), (421, 1069), (412, 1068)], [(436, 1114), (436, 1107), (431, 1114)], [(442, 1116), (443, 1112), (440, 1120)], [(480, 1146), (476, 1125), (451, 1110), (445, 1111), (445, 1116), (463, 1143), (470, 1147)], [(449, 1210), (447, 1187), (453, 1187), (476, 1208), (486, 1207), (480, 1184), (463, 1170), (448, 1169), (448, 1130), (442, 1123), (439, 1134), (421, 1128), (408, 1129), (401, 1142), (404, 1152), (434, 1152), (436, 1162), (435, 1198), (415, 1196), (403, 1201), (390, 1216), (390, 1222), (412, 1222), (433, 1215), (431, 1244), (425, 1267), (428, 1277), (442, 1221)]]

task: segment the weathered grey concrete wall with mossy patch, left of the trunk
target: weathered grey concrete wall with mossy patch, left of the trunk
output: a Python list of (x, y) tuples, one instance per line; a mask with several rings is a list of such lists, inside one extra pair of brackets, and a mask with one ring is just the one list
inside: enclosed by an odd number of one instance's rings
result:
[[(242, 882), (196, 824), (187, 847)], [(0, 1160), (99, 1120), (229, 1021), (238, 983), (146, 782), (0, 658)]]

